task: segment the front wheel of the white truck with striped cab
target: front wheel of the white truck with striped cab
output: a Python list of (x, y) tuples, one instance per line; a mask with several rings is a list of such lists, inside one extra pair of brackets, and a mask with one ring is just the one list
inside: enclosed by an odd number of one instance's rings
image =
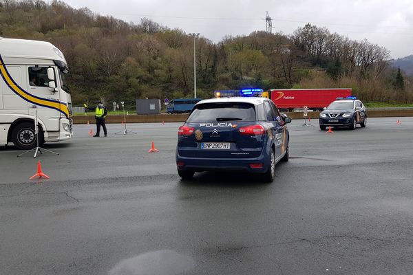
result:
[[(23, 122), (14, 127), (12, 132), (12, 141), (14, 145), (22, 150), (30, 150), (36, 147), (36, 134), (34, 132), (34, 123)], [(39, 146), (43, 142), (43, 133), (39, 129)]]

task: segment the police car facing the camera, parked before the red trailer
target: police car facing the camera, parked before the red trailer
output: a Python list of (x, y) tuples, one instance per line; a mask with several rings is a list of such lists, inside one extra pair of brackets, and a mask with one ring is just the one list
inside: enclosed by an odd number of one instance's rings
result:
[(367, 113), (364, 104), (354, 96), (337, 98), (319, 117), (321, 130), (326, 130), (327, 126), (348, 126), (354, 130), (357, 124), (366, 127)]

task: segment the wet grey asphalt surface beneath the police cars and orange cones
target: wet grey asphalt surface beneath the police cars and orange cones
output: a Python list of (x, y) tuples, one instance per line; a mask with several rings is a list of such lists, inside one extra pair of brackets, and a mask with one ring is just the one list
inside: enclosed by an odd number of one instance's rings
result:
[[(0, 148), (0, 274), (412, 274), (413, 118), (396, 120), (293, 121), (272, 184), (181, 181), (178, 123), (75, 125), (45, 144), (59, 156)], [(28, 179), (38, 160), (51, 179)]]

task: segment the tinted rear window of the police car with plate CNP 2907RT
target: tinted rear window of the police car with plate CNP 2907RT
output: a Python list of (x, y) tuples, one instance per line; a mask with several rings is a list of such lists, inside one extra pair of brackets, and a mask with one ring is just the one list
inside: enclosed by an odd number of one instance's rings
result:
[(253, 104), (244, 102), (216, 102), (198, 104), (187, 122), (254, 121)]

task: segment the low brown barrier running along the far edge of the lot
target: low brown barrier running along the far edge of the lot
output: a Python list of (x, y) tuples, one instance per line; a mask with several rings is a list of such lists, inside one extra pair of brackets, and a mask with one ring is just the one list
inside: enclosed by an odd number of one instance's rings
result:
[[(309, 118), (318, 119), (319, 111), (308, 112)], [(303, 118), (302, 112), (286, 112), (288, 117), (293, 119)], [(388, 117), (403, 117), (413, 116), (413, 109), (401, 108), (401, 109), (367, 109), (367, 115), (369, 118), (388, 118)], [(150, 122), (184, 122), (187, 120), (188, 114), (160, 114), (160, 115), (127, 115), (127, 123), (150, 123)], [(73, 117), (74, 124), (85, 124), (88, 121), (94, 123), (94, 115), (75, 115)], [(106, 118), (107, 123), (121, 123), (123, 122), (123, 115), (108, 115)]]

